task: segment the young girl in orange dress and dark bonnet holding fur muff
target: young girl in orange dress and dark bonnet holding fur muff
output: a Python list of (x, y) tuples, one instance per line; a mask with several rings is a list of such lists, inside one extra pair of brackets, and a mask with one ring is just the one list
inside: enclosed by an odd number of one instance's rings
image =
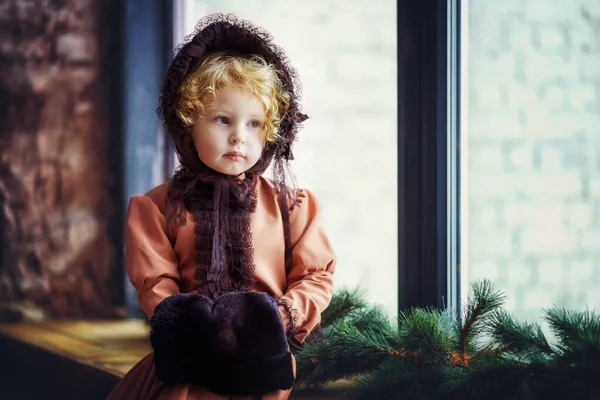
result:
[(299, 97), (282, 49), (248, 21), (208, 16), (177, 51), (158, 111), (181, 167), (131, 198), (126, 224), (154, 352), (110, 400), (289, 397), (289, 345), (318, 327), (335, 266), (318, 202), (286, 184)]

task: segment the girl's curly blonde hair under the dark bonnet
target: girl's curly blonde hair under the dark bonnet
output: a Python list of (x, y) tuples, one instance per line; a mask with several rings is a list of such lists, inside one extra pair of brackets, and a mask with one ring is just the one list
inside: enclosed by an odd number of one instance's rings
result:
[(186, 128), (214, 102), (225, 88), (240, 89), (256, 96), (265, 110), (265, 138), (268, 142), (279, 139), (278, 129), (290, 105), (290, 94), (285, 90), (277, 70), (262, 57), (241, 56), (215, 52), (191, 71), (179, 87), (177, 117)]

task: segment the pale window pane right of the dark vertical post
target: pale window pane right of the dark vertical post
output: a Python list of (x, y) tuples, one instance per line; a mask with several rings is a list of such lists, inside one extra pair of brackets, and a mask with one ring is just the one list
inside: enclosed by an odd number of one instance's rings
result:
[(466, 279), (491, 279), (528, 320), (598, 307), (599, 3), (468, 4)]

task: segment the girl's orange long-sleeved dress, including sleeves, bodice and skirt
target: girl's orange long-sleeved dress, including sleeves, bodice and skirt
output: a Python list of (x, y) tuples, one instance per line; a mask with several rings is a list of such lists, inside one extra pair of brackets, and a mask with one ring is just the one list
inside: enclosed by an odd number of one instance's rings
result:
[[(163, 299), (177, 293), (198, 290), (202, 282), (195, 278), (194, 219), (188, 213), (183, 226), (167, 228), (164, 217), (167, 184), (145, 195), (132, 196), (126, 218), (127, 274), (138, 295), (142, 310), (150, 318)], [(300, 190), (300, 203), (290, 213), (292, 266), (286, 272), (283, 220), (277, 193), (271, 181), (257, 180), (256, 211), (250, 214), (254, 247), (256, 285), (282, 297), (298, 318), (291, 321), (280, 307), (286, 328), (302, 343), (316, 328), (321, 312), (333, 295), (335, 255), (320, 221), (320, 207), (307, 190)], [(293, 360), (293, 358), (292, 358)], [(294, 366), (295, 373), (295, 366)], [(284, 400), (290, 390), (262, 396), (264, 400)], [(252, 399), (211, 393), (199, 385), (166, 386), (154, 372), (154, 358), (149, 354), (136, 364), (117, 384), (107, 400), (225, 400)]]

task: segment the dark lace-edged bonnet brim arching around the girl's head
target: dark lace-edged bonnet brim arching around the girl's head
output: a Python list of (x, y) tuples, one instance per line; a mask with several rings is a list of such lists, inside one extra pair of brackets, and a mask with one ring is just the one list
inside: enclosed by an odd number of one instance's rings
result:
[(181, 163), (193, 163), (196, 156), (187, 154), (194, 153), (193, 146), (190, 146), (189, 135), (185, 134), (185, 128), (176, 115), (179, 87), (206, 55), (217, 51), (262, 57), (275, 67), (290, 94), (289, 109), (279, 126), (280, 139), (267, 143), (261, 160), (248, 172), (262, 174), (273, 158), (285, 162), (293, 159), (292, 145), (302, 122), (308, 118), (300, 112), (302, 86), (297, 71), (283, 49), (273, 43), (271, 34), (263, 28), (233, 14), (211, 14), (201, 19), (194, 32), (175, 49), (175, 57), (161, 88), (158, 115), (164, 121)]

